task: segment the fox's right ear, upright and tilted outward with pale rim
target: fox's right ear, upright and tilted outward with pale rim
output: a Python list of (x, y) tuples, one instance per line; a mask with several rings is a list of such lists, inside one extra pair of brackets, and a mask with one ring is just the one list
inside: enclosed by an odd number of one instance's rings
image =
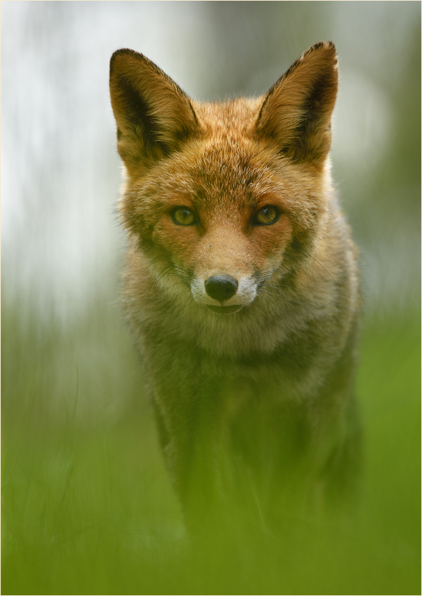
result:
[(317, 43), (265, 95), (256, 135), (275, 142), (293, 161), (322, 165), (331, 145), (337, 86), (334, 43)]

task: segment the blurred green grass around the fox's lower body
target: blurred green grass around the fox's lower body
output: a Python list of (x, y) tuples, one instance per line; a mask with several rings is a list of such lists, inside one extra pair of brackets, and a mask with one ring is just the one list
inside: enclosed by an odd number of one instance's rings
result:
[(117, 313), (2, 318), (3, 594), (420, 593), (420, 319), (367, 322), (362, 503), (292, 540), (190, 548)]

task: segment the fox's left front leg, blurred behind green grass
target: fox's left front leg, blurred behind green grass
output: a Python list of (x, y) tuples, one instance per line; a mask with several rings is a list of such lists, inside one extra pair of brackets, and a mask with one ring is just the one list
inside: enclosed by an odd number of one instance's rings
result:
[[(208, 381), (187, 386), (173, 381), (155, 395), (161, 448), (192, 534), (213, 525), (222, 494), (222, 391)], [(206, 390), (204, 390), (204, 386)]]

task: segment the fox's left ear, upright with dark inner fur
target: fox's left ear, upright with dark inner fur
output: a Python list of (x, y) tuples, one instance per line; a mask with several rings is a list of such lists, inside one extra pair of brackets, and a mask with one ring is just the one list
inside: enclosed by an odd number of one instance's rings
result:
[(189, 98), (154, 62), (133, 50), (110, 60), (110, 97), (124, 163), (151, 164), (179, 149), (197, 128)]

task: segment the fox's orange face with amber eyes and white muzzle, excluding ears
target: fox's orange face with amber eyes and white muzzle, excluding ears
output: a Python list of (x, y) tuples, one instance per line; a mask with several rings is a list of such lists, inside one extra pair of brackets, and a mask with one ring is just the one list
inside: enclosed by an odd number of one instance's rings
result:
[[(155, 219), (147, 230), (147, 215), (140, 214), (144, 227), (138, 235), (143, 250), (152, 257), (157, 278), (164, 271), (163, 291), (171, 288), (183, 297), (186, 286), (194, 302), (217, 314), (240, 311), (261, 288), (265, 290), (268, 280), (282, 279), (291, 245), (306, 231), (303, 224), (295, 229), (298, 212), (293, 220), (286, 176), (281, 183), (268, 172), (265, 180), (259, 180), (259, 156), (232, 147), (229, 161), (227, 144), (220, 155), (213, 146), (212, 155), (205, 148), (192, 158), (180, 183), (178, 158), (174, 158), (174, 174), (170, 168), (169, 180), (147, 191), (145, 203), (154, 205)], [(207, 161), (212, 169), (206, 168)], [(228, 176), (230, 187), (223, 176)], [(306, 218), (311, 218), (309, 213), (303, 213), (302, 219)]]

